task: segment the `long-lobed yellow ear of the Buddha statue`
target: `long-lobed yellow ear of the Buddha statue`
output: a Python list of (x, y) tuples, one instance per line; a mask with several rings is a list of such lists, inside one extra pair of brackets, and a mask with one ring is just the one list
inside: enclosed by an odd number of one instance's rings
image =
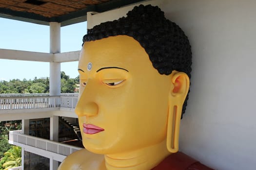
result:
[(189, 90), (189, 77), (184, 72), (173, 71), (169, 92), (169, 110), (167, 120), (166, 146), (170, 153), (178, 151), (179, 125), (183, 103)]

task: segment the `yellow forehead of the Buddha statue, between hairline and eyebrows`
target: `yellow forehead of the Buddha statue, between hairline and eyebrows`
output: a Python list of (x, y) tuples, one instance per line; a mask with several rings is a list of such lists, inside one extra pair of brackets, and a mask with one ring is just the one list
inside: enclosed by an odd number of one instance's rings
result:
[[(84, 71), (96, 71), (104, 67), (131, 69), (136, 68), (136, 65), (142, 67), (145, 63), (152, 67), (144, 48), (127, 35), (85, 42), (79, 57), (79, 68)], [(91, 65), (91, 70), (87, 69), (88, 65)]]

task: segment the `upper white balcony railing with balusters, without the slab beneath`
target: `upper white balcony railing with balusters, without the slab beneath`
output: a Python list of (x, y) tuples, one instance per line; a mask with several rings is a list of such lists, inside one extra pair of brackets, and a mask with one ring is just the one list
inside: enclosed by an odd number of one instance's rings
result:
[(72, 108), (78, 102), (78, 93), (64, 93), (60, 96), (49, 94), (0, 94), (0, 110)]

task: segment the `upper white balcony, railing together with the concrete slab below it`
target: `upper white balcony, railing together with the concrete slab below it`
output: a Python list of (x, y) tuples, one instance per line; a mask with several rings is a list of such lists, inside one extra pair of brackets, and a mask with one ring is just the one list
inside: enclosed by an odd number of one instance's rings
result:
[[(51, 116), (77, 118), (74, 113), (78, 93), (0, 94), (0, 117), (3, 120), (37, 119)], [(61, 112), (60, 112), (61, 111)], [(43, 114), (40, 114), (42, 113)]]

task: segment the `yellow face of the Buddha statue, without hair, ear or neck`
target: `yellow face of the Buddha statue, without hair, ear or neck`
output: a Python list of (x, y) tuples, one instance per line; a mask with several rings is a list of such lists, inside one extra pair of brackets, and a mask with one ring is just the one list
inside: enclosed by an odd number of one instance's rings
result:
[(118, 35), (85, 42), (79, 75), (75, 112), (87, 150), (120, 153), (166, 138), (171, 79), (153, 68), (134, 38)]

